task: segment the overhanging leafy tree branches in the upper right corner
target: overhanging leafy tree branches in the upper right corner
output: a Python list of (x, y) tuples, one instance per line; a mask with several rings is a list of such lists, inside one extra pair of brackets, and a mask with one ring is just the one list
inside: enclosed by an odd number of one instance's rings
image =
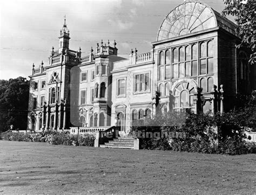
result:
[(237, 22), (237, 29), (235, 30), (238, 36), (241, 38), (241, 43), (237, 47), (245, 46), (250, 47), (252, 54), (250, 55), (249, 62), (253, 64), (256, 61), (256, 51), (255, 51), (255, 3), (253, 1), (244, 1), (245, 3), (240, 3), (240, 1), (224, 0), (227, 4), (223, 10), (223, 16), (232, 15), (235, 16), (235, 22)]

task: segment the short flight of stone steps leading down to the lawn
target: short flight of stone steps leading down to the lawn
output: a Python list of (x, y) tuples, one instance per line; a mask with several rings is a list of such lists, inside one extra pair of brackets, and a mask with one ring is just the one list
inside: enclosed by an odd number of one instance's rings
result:
[(100, 144), (101, 148), (123, 148), (123, 149), (134, 149), (134, 139), (131, 137), (118, 137), (112, 141)]

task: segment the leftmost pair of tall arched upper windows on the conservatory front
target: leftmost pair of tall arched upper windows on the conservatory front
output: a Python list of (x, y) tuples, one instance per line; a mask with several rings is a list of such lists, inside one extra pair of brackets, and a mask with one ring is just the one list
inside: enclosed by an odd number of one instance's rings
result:
[(171, 53), (170, 50), (160, 51), (159, 53), (159, 81), (171, 79)]

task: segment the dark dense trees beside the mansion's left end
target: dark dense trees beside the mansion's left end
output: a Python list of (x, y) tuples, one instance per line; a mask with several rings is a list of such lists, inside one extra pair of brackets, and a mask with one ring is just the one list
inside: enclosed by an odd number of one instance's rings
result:
[(14, 125), (26, 129), (28, 120), (29, 81), (26, 78), (0, 80), (0, 132)]

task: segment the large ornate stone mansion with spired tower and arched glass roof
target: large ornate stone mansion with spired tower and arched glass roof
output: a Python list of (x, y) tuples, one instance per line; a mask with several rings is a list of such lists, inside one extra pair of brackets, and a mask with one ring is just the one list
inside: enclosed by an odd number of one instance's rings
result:
[(28, 129), (119, 126), (157, 112), (225, 112), (237, 93), (256, 87), (248, 51), (235, 47), (235, 24), (210, 6), (187, 1), (161, 23), (152, 50), (118, 57), (116, 42), (85, 57), (69, 48), (64, 23), (48, 64), (33, 65)]

